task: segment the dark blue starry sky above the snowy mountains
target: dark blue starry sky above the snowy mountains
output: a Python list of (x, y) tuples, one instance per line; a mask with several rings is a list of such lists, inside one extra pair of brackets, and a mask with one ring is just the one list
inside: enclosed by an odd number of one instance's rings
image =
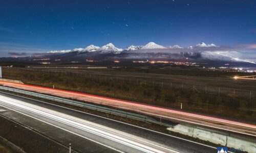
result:
[(1, 1), (0, 56), (112, 42), (256, 43), (256, 1)]

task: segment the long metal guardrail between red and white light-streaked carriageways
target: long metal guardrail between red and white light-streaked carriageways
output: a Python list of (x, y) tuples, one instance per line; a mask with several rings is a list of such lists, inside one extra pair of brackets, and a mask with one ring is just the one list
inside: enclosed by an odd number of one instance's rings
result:
[(61, 97), (56, 97), (56, 96), (51, 96), (51, 95), (47, 95), (47, 94), (26, 91), (26, 90), (20, 90), (20, 89), (15, 89), (15, 88), (10, 88), (10, 87), (0, 86), (0, 89), (11, 91), (11, 92), (16, 92), (16, 93), (21, 93), (21, 94), (26, 94), (26, 95), (30, 95), (30, 96), (34, 96), (34, 97), (44, 98), (44, 99), (48, 99), (48, 100), (53, 100), (53, 101), (57, 101), (59, 103), (65, 103), (68, 105), (83, 107), (83, 108), (87, 108), (87, 109), (91, 109), (91, 110), (96, 110), (96, 111), (109, 113), (109, 114), (113, 114), (113, 115), (117, 115), (117, 116), (121, 116), (121, 117), (144, 121), (144, 122), (148, 122), (148, 123), (155, 123), (155, 124), (159, 124), (161, 126), (166, 126), (166, 127), (174, 126), (172, 124), (163, 122), (161, 118), (158, 121), (157, 119), (154, 119), (147, 115), (121, 111), (121, 110), (107, 108), (107, 107), (103, 107), (103, 106), (88, 104), (88, 103), (84, 103), (84, 102), (80, 102), (80, 101), (76, 101), (76, 100), (71, 100), (71, 99), (66, 99), (66, 98), (61, 98)]

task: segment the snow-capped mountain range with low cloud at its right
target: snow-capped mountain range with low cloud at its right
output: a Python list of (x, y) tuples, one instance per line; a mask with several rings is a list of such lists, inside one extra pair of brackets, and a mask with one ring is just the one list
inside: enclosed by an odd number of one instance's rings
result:
[[(155, 42), (149, 42), (145, 45), (130, 45), (125, 49), (117, 48), (113, 43), (108, 43), (101, 47), (89, 45), (85, 48), (74, 48), (68, 50), (52, 50), (47, 53), (34, 54), (23, 58), (2, 58), (0, 61), (25, 61), (37, 62), (38, 59), (50, 59), (49, 62), (69, 63), (72, 61), (84, 63), (86, 60), (94, 61), (114, 61), (114, 60), (165, 60), (182, 62), (203, 62), (217, 63), (242, 63), (255, 67), (255, 61), (249, 60), (246, 54), (235, 50), (236, 48), (227, 46), (218, 46), (213, 43), (198, 43), (194, 46), (182, 47), (179, 45), (162, 46)], [(242, 50), (243, 51), (243, 50)], [(220, 64), (222, 63), (222, 64)]]

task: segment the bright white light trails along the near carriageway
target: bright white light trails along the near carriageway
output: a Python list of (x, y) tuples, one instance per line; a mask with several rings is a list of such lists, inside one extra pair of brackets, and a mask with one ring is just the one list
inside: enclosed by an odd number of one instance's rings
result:
[[(8, 106), (12, 106), (18, 109), (25, 110), (26, 112), (37, 114), (39, 116), (42, 116), (42, 118), (48, 118), (52, 121), (56, 121), (62, 124), (66, 124), (68, 126), (72, 126), (74, 128), (73, 133), (75, 133), (76, 131), (75, 129), (79, 129), (79, 130), (97, 135), (99, 137), (109, 139), (111, 141), (115, 141), (122, 145), (135, 148), (142, 152), (178, 152), (171, 148), (168, 148), (167, 146), (155, 143), (150, 140), (146, 140), (131, 134), (127, 134), (127, 133), (112, 129), (110, 127), (96, 124), (96, 123), (83, 120), (77, 117), (73, 117), (67, 114), (59, 113), (50, 109), (32, 105), (24, 101), (16, 100), (16, 99), (5, 97), (2, 95), (0, 95), (0, 99), (1, 99), (0, 105), (1, 103), (4, 103)], [(6, 106), (3, 106), (3, 107), (6, 107)], [(17, 110), (14, 110), (14, 111), (19, 112)], [(35, 119), (42, 120), (41, 118), (35, 118)], [(115, 149), (113, 147), (110, 147), (110, 148)], [(115, 150), (118, 150), (118, 149), (115, 149)], [(120, 152), (122, 151), (125, 151), (125, 150), (121, 150)]]

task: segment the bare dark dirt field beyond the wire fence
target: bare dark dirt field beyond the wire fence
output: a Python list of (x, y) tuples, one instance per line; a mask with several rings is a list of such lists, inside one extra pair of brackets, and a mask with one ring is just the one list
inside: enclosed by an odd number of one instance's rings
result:
[[(94, 78), (108, 82), (125, 82), (133, 85), (159, 85), (163, 86), (163, 88), (171, 88), (172, 86), (173, 89), (187, 91), (193, 90), (194, 86), (200, 93), (219, 94), (220, 92), (223, 94), (233, 94), (235, 90), (235, 95), (248, 98), (251, 94), (251, 97), (256, 98), (255, 80), (233, 79), (235, 75), (248, 75), (248, 73), (218, 71), (213, 73), (212, 71), (193, 71), (191, 69), (149, 69), (147, 71), (141, 68), (27, 68), (26, 70), (60, 73), (67, 76)], [(164, 74), (164, 72), (167, 74)], [(207, 77), (195, 76), (197, 73)], [(219, 73), (222, 77), (216, 77), (215, 73)]]

